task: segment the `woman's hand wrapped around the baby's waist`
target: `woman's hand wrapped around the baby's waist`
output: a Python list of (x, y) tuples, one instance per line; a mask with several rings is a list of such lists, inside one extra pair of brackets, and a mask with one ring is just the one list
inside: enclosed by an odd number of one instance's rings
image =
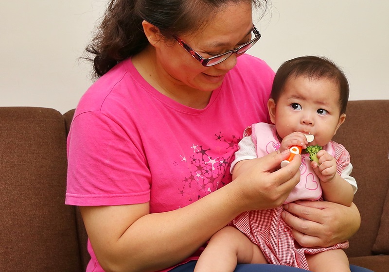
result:
[(344, 242), (356, 233), (361, 222), (354, 203), (348, 207), (325, 201), (297, 201), (284, 208), (283, 219), (292, 226), (293, 236), (302, 247)]

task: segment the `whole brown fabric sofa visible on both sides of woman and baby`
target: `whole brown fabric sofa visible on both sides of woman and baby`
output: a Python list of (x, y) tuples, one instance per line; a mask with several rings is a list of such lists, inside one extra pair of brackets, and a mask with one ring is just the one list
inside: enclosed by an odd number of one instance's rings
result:
[[(346, 146), (361, 227), (350, 262), (389, 269), (389, 100), (351, 101), (335, 140)], [(89, 255), (78, 209), (64, 204), (74, 111), (0, 107), (0, 271), (81, 272)]]

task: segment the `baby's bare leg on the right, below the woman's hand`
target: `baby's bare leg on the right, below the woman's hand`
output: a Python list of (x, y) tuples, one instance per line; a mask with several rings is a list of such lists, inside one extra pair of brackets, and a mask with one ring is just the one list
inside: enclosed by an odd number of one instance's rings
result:
[(309, 271), (350, 272), (347, 255), (341, 249), (328, 250), (315, 255), (306, 255)]

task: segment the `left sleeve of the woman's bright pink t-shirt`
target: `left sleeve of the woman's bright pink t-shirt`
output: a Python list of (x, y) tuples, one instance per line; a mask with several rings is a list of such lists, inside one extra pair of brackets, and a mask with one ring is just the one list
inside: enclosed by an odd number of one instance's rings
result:
[(137, 137), (102, 112), (77, 115), (68, 136), (66, 204), (148, 202), (151, 175)]

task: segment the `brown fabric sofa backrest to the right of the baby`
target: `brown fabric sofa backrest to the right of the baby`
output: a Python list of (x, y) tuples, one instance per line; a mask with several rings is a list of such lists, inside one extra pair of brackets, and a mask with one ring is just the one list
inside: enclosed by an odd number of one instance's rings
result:
[(349, 151), (358, 185), (354, 203), (361, 226), (347, 255), (371, 255), (389, 187), (389, 100), (350, 101), (334, 140)]

